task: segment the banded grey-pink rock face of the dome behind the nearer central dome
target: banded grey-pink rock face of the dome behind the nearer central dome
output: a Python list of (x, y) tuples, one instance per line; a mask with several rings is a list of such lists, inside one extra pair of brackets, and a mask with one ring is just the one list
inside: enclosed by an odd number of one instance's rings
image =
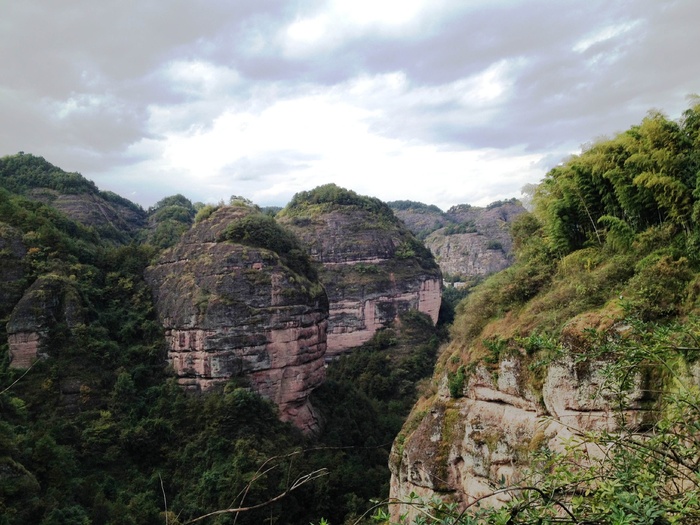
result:
[(347, 205), (280, 218), (320, 263), (330, 302), (330, 356), (365, 343), (405, 310), (437, 322), (440, 270), (420, 241), (386, 212)]

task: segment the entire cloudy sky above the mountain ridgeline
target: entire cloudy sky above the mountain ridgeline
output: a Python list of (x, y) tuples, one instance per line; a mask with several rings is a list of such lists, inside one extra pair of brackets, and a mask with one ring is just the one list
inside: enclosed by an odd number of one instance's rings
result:
[(519, 197), (700, 93), (697, 0), (0, 0), (0, 156), (147, 207)]

